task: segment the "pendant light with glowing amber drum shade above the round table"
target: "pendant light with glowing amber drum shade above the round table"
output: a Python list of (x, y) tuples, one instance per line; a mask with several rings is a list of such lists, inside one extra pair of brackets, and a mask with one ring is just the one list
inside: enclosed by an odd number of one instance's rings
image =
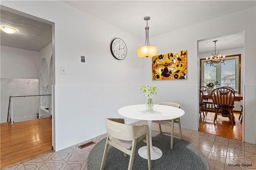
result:
[(150, 28), (147, 26), (147, 21), (150, 20), (150, 17), (145, 16), (144, 20), (146, 21), (145, 45), (137, 48), (137, 54), (138, 57), (154, 57), (157, 55), (157, 46), (150, 45), (150, 40), (148, 39), (148, 30)]

